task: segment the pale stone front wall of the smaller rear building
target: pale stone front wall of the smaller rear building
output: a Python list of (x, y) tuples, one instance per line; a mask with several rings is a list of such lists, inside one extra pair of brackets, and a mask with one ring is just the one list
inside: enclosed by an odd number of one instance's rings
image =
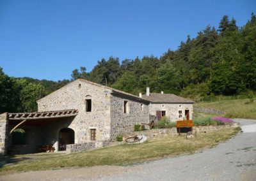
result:
[[(189, 110), (189, 119), (193, 118), (193, 104), (150, 104), (149, 113), (150, 115), (156, 116), (156, 111), (165, 111), (166, 117), (170, 121), (175, 122), (177, 120), (186, 119), (185, 110)], [(179, 118), (179, 110), (182, 111), (182, 117)]]

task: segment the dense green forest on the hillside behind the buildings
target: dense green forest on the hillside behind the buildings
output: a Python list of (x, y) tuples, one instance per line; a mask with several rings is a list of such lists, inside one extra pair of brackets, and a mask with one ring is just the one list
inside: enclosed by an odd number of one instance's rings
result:
[(179, 94), (187, 98), (252, 94), (256, 91), (256, 16), (246, 25), (223, 16), (218, 29), (207, 25), (195, 38), (188, 36), (177, 50), (161, 57), (102, 59), (91, 72), (86, 65), (74, 69), (70, 80), (53, 82), (14, 78), (0, 68), (0, 112), (36, 111), (36, 100), (72, 80), (84, 78), (131, 94), (151, 92)]

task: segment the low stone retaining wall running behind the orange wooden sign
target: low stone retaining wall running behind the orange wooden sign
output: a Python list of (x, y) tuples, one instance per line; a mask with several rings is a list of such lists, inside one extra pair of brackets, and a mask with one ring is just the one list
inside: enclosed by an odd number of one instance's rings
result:
[[(226, 127), (237, 127), (237, 124), (227, 124), (222, 126), (194, 126), (193, 133), (200, 134), (200, 133), (209, 133), (212, 131), (216, 131), (219, 129), (223, 129)], [(136, 134), (144, 134), (147, 136), (148, 139), (156, 139), (156, 138), (163, 138), (166, 136), (177, 136), (179, 133), (177, 132), (176, 127), (172, 128), (165, 128), (165, 129), (150, 129), (145, 131), (134, 131), (131, 133), (124, 133), (122, 134), (123, 139), (125, 140), (128, 137), (134, 136)]]

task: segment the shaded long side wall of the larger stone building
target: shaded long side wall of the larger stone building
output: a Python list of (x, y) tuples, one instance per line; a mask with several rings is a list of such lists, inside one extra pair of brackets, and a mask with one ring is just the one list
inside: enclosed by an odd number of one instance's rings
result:
[[(124, 113), (124, 101), (127, 101), (127, 113)], [(148, 123), (148, 105), (129, 98), (111, 97), (111, 140), (121, 133), (134, 131), (134, 124)]]

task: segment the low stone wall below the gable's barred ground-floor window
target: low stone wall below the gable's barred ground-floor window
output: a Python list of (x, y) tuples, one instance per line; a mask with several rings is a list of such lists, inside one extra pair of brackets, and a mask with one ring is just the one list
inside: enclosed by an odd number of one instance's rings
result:
[(67, 145), (66, 151), (67, 154), (83, 152), (86, 150), (93, 150), (96, 148), (102, 148), (108, 145), (109, 141), (91, 141), (86, 143), (76, 143)]

